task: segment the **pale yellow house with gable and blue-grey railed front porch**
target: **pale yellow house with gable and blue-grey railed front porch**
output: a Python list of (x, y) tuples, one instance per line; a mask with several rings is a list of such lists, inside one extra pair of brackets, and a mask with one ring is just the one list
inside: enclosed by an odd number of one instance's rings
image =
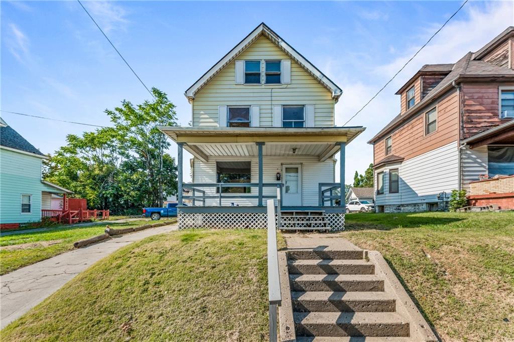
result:
[[(178, 146), (179, 227), (265, 227), (263, 201), (279, 197), (289, 226), (341, 229), (345, 146), (364, 130), (335, 127), (341, 94), (277, 33), (256, 27), (186, 90), (192, 126), (161, 127)], [(183, 149), (194, 156), (192, 183), (182, 182)]]

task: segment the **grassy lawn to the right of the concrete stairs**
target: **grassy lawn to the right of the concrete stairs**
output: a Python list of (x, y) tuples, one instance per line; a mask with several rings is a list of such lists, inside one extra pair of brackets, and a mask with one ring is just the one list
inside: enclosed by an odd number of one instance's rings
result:
[(346, 230), (383, 254), (444, 340), (512, 340), (514, 213), (358, 213)]

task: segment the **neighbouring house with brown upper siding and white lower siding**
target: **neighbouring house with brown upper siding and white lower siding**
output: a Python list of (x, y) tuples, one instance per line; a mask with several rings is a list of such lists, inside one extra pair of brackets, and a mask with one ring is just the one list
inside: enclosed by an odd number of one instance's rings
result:
[[(423, 66), (396, 94), (399, 115), (369, 141), (377, 211), (441, 210), (452, 189), (480, 205), (471, 182), (514, 174), (514, 27), (455, 64)], [(510, 187), (480, 196), (514, 208)]]

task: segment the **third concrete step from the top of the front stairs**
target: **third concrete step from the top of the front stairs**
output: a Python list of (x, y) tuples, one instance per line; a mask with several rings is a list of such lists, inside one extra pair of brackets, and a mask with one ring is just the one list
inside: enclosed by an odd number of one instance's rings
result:
[(290, 274), (291, 291), (384, 291), (384, 281), (373, 274)]

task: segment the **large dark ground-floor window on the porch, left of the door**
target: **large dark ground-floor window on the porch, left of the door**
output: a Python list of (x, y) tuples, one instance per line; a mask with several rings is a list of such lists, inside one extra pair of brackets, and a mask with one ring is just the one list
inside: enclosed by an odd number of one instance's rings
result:
[[(251, 164), (249, 161), (218, 161), (216, 162), (216, 182), (218, 183), (250, 183)], [(222, 194), (249, 194), (249, 186), (222, 187)], [(216, 189), (219, 194), (219, 188)]]

